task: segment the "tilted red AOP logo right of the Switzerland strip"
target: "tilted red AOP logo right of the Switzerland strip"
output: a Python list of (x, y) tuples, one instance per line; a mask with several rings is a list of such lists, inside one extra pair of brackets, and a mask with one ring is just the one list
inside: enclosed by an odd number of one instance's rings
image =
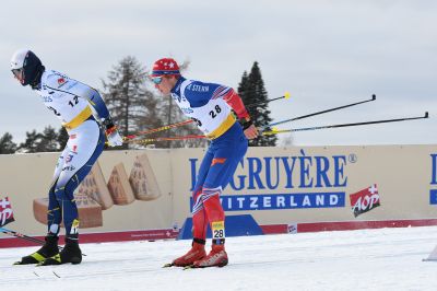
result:
[(350, 198), (352, 211), (354, 212), (355, 217), (380, 206), (379, 194), (376, 184), (361, 191), (351, 194)]

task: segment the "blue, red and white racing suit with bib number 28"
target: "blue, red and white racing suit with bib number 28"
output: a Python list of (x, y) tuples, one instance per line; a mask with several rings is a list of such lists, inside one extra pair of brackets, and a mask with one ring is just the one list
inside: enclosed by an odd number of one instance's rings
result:
[(184, 114), (192, 118), (211, 139), (192, 191), (193, 237), (205, 241), (209, 222), (213, 244), (224, 244), (225, 214), (220, 195), (248, 147), (248, 140), (232, 109), (238, 118), (249, 115), (238, 94), (232, 88), (220, 84), (180, 77), (172, 90), (172, 96)]

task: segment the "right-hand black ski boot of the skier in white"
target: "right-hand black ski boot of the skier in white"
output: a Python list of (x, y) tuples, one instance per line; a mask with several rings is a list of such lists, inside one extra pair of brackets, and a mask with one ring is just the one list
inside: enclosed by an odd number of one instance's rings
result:
[(38, 266), (61, 265), (67, 263), (75, 265), (81, 261), (82, 252), (81, 248), (79, 248), (78, 235), (69, 235), (66, 237), (66, 245), (62, 251), (52, 257), (46, 258), (44, 261), (39, 263)]

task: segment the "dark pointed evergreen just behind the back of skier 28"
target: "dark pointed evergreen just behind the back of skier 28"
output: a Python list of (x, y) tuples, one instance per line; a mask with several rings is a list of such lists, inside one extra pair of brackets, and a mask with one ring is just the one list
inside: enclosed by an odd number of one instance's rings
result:
[[(238, 94), (248, 108), (249, 115), (256, 127), (263, 127), (271, 124), (273, 119), (270, 117), (271, 112), (269, 110), (269, 104), (267, 103), (269, 97), (257, 61), (253, 62), (249, 74), (247, 74), (246, 71), (243, 73), (241, 82), (238, 85)], [(255, 103), (259, 104), (257, 106), (250, 106), (250, 104)], [(270, 128), (265, 128), (264, 130), (270, 130)], [(250, 140), (249, 146), (274, 147), (276, 141), (276, 136), (260, 136)]]

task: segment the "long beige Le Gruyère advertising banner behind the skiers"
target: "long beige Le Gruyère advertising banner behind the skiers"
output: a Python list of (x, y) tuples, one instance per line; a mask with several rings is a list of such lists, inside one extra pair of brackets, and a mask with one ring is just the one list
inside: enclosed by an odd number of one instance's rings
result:
[[(105, 151), (74, 195), (80, 233), (176, 237), (204, 153)], [(0, 155), (11, 229), (46, 233), (58, 155)], [(221, 200), (227, 217), (249, 216), (264, 233), (437, 224), (437, 147), (249, 148)]]

